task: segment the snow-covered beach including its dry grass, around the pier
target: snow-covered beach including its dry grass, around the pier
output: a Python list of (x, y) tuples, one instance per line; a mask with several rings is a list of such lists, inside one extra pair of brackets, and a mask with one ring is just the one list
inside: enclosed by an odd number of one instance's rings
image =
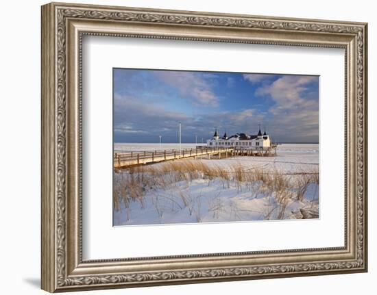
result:
[[(116, 152), (177, 148), (114, 144)], [(318, 218), (318, 168), (318, 144), (280, 144), (276, 157), (180, 159), (119, 170), (114, 225)]]

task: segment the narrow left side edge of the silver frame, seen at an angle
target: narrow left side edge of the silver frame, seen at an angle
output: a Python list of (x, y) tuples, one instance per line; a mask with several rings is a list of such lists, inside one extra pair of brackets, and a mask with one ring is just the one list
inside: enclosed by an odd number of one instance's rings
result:
[(55, 43), (51, 3), (41, 7), (41, 280), (40, 287), (56, 291), (56, 159), (55, 159)]

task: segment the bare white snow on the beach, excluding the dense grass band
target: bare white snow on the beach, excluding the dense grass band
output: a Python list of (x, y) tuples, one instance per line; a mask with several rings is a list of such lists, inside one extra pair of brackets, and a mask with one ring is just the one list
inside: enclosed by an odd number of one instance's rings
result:
[[(115, 151), (148, 151), (159, 149), (159, 144), (115, 144)], [(162, 144), (162, 149), (176, 149), (177, 144)], [(195, 144), (182, 144), (182, 149)], [(226, 159), (199, 159), (210, 167), (231, 171), (241, 165), (244, 170), (256, 169), (287, 175), (291, 183), (303, 173), (313, 173), (319, 165), (318, 144), (281, 144), (276, 157), (229, 157)], [(179, 161), (190, 161), (187, 159)], [(169, 162), (149, 166), (156, 168)], [(121, 182), (128, 170), (114, 174)], [(169, 172), (174, 173), (174, 172)], [(144, 177), (148, 177), (146, 174)], [(149, 176), (150, 177), (150, 176)], [(171, 175), (166, 175), (166, 178)], [(143, 197), (121, 201), (114, 209), (114, 225), (156, 225), (191, 222), (236, 222), (302, 218), (300, 209), (311, 209), (318, 214), (319, 185), (308, 183), (304, 195), (297, 200), (297, 185), (283, 192), (271, 190), (263, 181), (239, 182), (234, 179), (181, 180), (169, 185), (147, 185)], [(284, 197), (281, 201), (282, 196)], [(279, 201), (280, 200), (280, 201)]]

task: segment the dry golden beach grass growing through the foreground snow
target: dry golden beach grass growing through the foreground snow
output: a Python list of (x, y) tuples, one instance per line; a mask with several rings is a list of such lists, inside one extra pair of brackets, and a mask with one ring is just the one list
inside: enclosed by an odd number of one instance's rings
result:
[[(217, 185), (210, 198), (201, 193), (193, 194), (189, 188), (197, 181), (208, 188)], [(149, 166), (136, 166), (116, 172), (114, 180), (114, 210), (124, 211), (125, 220), (130, 220), (130, 205), (138, 203), (139, 209), (145, 203), (153, 204), (158, 218), (164, 218), (168, 212), (184, 211), (194, 221), (221, 221), (227, 214), (234, 220), (243, 220), (254, 209), (240, 206), (229, 198), (221, 198), (222, 192), (234, 192), (234, 196), (247, 194), (250, 199), (263, 196), (267, 205), (258, 213), (258, 219), (317, 218), (318, 200), (302, 205), (302, 210), (287, 210), (289, 204), (303, 203), (308, 188), (319, 184), (318, 170), (294, 173), (282, 170), (269, 170), (260, 167), (242, 166), (239, 163), (228, 166), (207, 164), (202, 160), (178, 160)], [(170, 192), (162, 194), (161, 192)], [(306, 200), (307, 201), (307, 200)], [(248, 212), (250, 211), (250, 212)], [(309, 213), (308, 213), (309, 212)], [(246, 215), (245, 215), (246, 214)]]

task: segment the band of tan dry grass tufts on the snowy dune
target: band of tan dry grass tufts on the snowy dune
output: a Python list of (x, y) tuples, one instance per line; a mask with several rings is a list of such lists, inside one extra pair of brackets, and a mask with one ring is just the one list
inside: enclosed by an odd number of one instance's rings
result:
[[(198, 222), (202, 221), (202, 198), (191, 196), (184, 190), (189, 188), (196, 179), (208, 180), (211, 185), (215, 179), (220, 180), (223, 189), (236, 188), (237, 192), (250, 192), (251, 198), (264, 194), (269, 198), (270, 204), (265, 213), (261, 212), (265, 219), (287, 218), (287, 205), (292, 200), (303, 201), (311, 183), (319, 184), (318, 170), (309, 172), (300, 171), (294, 175), (280, 170), (264, 170), (260, 167), (243, 166), (236, 163), (230, 166), (218, 166), (206, 164), (201, 160), (177, 160), (148, 166), (136, 166), (115, 171), (113, 207), (119, 211), (126, 208), (127, 220), (130, 218), (130, 203), (137, 202), (141, 208), (145, 207), (145, 194), (152, 192), (153, 203), (159, 218), (163, 217), (166, 210), (187, 209), (191, 216), (195, 216)], [(180, 188), (176, 195), (160, 194), (159, 190)], [(122, 203), (124, 204), (122, 206)], [(240, 211), (229, 208), (236, 218)], [(224, 203), (221, 197), (215, 196), (208, 203), (208, 211), (213, 218), (219, 218), (224, 211)]]

